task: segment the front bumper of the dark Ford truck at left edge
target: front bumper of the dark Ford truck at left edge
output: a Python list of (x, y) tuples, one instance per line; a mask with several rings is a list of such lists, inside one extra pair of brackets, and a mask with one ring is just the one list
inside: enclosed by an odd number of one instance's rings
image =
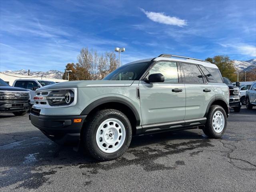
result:
[(29, 100), (0, 100), (0, 112), (26, 111), (30, 107)]

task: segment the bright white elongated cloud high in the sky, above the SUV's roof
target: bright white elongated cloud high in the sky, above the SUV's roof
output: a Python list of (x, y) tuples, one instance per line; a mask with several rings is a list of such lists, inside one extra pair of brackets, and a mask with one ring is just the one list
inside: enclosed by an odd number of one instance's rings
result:
[(140, 8), (140, 10), (144, 12), (144, 14), (146, 14), (146, 16), (154, 22), (158, 22), (166, 25), (176, 25), (179, 27), (188, 25), (186, 20), (179, 19), (177, 17), (170, 17), (168, 15), (165, 15), (164, 13), (148, 12), (142, 8)]

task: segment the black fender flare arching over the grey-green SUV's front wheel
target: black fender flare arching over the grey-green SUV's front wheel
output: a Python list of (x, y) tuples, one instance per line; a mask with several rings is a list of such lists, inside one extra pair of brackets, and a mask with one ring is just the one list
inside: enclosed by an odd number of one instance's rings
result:
[(110, 102), (124, 104), (128, 108), (130, 108), (130, 110), (133, 112), (133, 114), (136, 118), (136, 125), (137, 126), (140, 125), (140, 115), (139, 115), (138, 111), (136, 110), (136, 108), (134, 107), (134, 105), (130, 101), (128, 101), (124, 98), (120, 98), (120, 97), (110, 96), (110, 97), (100, 98), (100, 99), (92, 102), (88, 106), (86, 106), (86, 108), (81, 112), (81, 115), (88, 115), (94, 108), (96, 108), (102, 104), (110, 103)]

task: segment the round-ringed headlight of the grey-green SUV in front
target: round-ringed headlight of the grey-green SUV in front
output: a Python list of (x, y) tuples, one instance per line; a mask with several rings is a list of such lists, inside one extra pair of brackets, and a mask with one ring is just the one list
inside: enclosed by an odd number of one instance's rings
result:
[(65, 106), (74, 102), (74, 92), (72, 90), (52, 91), (46, 96), (50, 106)]

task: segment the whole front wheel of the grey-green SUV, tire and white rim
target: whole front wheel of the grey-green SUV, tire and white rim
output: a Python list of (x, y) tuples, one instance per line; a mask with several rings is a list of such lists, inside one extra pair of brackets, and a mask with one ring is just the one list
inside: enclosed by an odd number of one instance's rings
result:
[(130, 145), (132, 126), (120, 111), (105, 109), (90, 118), (83, 140), (88, 152), (101, 161), (120, 157)]

